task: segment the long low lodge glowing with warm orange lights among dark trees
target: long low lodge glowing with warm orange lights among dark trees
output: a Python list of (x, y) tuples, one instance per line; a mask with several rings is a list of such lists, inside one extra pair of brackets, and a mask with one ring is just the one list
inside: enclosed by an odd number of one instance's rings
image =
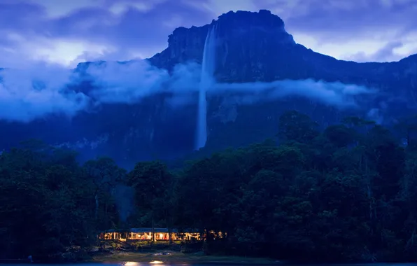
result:
[(155, 241), (168, 241), (171, 234), (171, 240), (200, 240), (199, 232), (185, 231), (179, 232), (177, 229), (169, 230), (168, 228), (131, 228), (129, 230), (107, 230), (101, 232), (99, 239), (102, 240), (148, 240), (153, 239), (153, 232), (155, 233)]

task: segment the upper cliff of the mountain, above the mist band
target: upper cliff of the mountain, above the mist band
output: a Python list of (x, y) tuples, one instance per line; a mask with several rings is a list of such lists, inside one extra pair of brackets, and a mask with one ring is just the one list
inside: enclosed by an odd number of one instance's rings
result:
[(295, 43), (285, 31), (283, 20), (267, 10), (229, 12), (213, 20), (211, 25), (178, 28), (169, 36), (169, 47), (152, 57), (150, 62), (167, 69), (181, 62), (201, 63), (204, 40), (208, 29), (214, 25), (217, 25), (220, 43), (217, 50), (217, 78), (220, 81), (314, 78), (376, 86), (383, 90), (415, 88), (417, 84), (417, 55), (390, 63), (337, 60)]

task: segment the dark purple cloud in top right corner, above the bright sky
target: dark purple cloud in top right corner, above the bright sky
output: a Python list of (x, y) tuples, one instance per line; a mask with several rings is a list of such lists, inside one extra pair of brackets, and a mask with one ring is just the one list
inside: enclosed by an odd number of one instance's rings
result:
[[(301, 2), (301, 1), (300, 1)], [(299, 31), (332, 38), (367, 36), (370, 31), (397, 29), (398, 34), (416, 30), (417, 1), (411, 0), (311, 0), (303, 1), (306, 12), (288, 18)], [(339, 34), (336, 34), (339, 33)]]

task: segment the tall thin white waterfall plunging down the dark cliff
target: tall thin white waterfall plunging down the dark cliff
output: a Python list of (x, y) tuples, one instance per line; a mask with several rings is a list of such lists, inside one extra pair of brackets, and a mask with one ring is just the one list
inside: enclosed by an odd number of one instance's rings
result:
[(206, 146), (207, 141), (207, 99), (206, 92), (214, 83), (215, 70), (215, 27), (211, 27), (204, 43), (202, 78), (199, 85), (199, 109), (195, 149)]

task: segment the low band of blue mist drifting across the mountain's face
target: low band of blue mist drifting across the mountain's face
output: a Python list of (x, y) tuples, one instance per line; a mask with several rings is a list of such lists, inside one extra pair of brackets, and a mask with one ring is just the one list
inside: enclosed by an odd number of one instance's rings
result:
[[(83, 75), (50, 64), (1, 71), (0, 119), (29, 122), (52, 114), (75, 116), (99, 104), (141, 104), (144, 97), (167, 94), (171, 106), (197, 101), (201, 66), (179, 64), (169, 73), (146, 60), (91, 63), (85, 69), (92, 88), (81, 92)], [(75, 88), (75, 89), (74, 89)], [(85, 88), (85, 87), (84, 87)], [(374, 93), (367, 87), (316, 80), (276, 80), (272, 83), (215, 83), (210, 95), (239, 97), (239, 104), (307, 97), (340, 108), (355, 107), (355, 95)], [(195, 102), (197, 103), (197, 102)]]

